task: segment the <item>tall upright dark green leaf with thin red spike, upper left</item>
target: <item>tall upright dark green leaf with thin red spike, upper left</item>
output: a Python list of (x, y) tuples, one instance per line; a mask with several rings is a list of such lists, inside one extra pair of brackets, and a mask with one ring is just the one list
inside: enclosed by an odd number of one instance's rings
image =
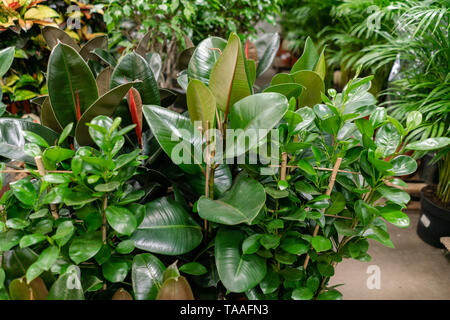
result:
[(73, 48), (59, 43), (50, 54), (47, 72), (50, 103), (59, 124), (77, 122), (77, 108), (83, 114), (97, 100), (94, 75)]

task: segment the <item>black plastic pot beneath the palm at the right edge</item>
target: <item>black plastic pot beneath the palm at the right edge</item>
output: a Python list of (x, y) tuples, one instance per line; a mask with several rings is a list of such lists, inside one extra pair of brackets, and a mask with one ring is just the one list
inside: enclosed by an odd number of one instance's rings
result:
[(450, 236), (450, 210), (433, 203), (426, 196), (429, 190), (434, 191), (432, 186), (426, 186), (420, 191), (422, 210), (417, 224), (417, 234), (426, 243), (443, 248), (440, 238)]

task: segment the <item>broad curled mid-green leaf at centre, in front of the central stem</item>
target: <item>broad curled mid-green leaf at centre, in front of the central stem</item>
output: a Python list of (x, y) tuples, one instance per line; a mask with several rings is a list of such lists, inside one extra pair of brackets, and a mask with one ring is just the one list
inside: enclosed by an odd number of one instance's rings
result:
[[(248, 195), (252, 195), (249, 197)], [(202, 196), (197, 203), (201, 218), (226, 224), (252, 224), (264, 206), (264, 187), (251, 178), (240, 178), (220, 199), (211, 200)]]

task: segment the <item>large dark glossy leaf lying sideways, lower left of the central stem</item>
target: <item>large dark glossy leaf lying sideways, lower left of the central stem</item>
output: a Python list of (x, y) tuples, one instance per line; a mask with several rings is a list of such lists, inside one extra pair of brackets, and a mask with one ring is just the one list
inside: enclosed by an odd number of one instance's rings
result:
[(193, 250), (201, 243), (201, 227), (174, 200), (159, 198), (145, 207), (144, 220), (131, 237), (136, 248), (179, 255)]

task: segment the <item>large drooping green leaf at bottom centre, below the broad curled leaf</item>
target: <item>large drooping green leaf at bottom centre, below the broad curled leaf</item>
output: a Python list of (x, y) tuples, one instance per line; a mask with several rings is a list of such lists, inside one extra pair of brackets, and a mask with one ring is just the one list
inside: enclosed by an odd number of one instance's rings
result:
[(245, 292), (259, 284), (266, 276), (266, 260), (256, 254), (241, 251), (245, 234), (239, 230), (219, 229), (214, 253), (220, 280), (231, 292)]

